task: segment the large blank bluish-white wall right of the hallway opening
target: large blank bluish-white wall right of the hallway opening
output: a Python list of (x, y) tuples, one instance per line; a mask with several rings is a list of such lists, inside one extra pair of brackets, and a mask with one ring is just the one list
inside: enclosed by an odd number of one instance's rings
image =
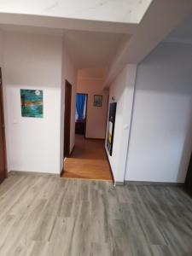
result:
[(192, 143), (192, 45), (160, 44), (137, 68), (126, 180), (183, 183)]

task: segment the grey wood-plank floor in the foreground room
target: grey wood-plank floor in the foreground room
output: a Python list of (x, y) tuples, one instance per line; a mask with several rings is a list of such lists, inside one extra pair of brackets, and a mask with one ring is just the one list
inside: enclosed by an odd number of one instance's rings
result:
[(11, 175), (0, 185), (1, 256), (191, 256), (182, 189)]

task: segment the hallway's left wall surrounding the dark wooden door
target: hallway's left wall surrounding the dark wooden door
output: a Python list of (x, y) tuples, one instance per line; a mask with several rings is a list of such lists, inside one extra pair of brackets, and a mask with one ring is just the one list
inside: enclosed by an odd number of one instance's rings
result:
[(61, 169), (63, 166), (63, 143), (64, 143), (64, 113), (65, 113), (65, 81), (72, 84), (72, 106), (71, 106), (71, 131), (70, 131), (70, 152), (75, 144), (75, 111), (76, 111), (76, 87), (77, 87), (77, 70), (73, 61), (68, 54), (65, 44), (65, 38), (62, 44), (62, 72), (61, 72)]

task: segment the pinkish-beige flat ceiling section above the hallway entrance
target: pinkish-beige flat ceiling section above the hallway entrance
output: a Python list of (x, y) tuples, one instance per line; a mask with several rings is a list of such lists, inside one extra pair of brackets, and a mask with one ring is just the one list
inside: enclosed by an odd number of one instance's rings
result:
[(115, 33), (65, 32), (67, 49), (76, 67), (79, 68), (109, 66), (121, 38), (121, 34)]

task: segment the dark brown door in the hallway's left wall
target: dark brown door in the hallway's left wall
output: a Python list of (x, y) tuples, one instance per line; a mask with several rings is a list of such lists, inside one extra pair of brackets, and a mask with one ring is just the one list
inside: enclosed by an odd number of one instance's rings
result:
[(70, 154), (72, 85), (66, 80), (64, 118), (64, 158)]

